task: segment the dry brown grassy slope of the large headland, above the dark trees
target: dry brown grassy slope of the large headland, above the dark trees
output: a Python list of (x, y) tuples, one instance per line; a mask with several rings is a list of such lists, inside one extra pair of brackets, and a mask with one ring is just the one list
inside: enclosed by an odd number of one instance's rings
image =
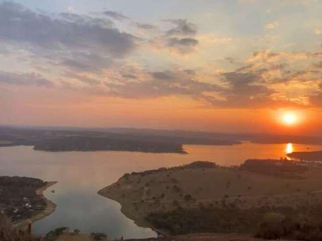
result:
[[(296, 206), (322, 200), (322, 168), (310, 166), (303, 179), (283, 179), (228, 168), (167, 170), (122, 177), (99, 193), (121, 203), (122, 212), (141, 226), (147, 214), (222, 200), (239, 208)], [(193, 200), (185, 197), (191, 195)]]

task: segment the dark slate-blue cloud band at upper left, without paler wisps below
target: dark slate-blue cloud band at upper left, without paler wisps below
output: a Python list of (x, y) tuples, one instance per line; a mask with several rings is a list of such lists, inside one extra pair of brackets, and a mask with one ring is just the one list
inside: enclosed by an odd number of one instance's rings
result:
[(0, 40), (55, 50), (95, 48), (117, 56), (135, 46), (133, 36), (112, 28), (110, 23), (103, 26), (98, 19), (72, 17), (68, 21), (55, 19), (5, 2), (0, 5)]

